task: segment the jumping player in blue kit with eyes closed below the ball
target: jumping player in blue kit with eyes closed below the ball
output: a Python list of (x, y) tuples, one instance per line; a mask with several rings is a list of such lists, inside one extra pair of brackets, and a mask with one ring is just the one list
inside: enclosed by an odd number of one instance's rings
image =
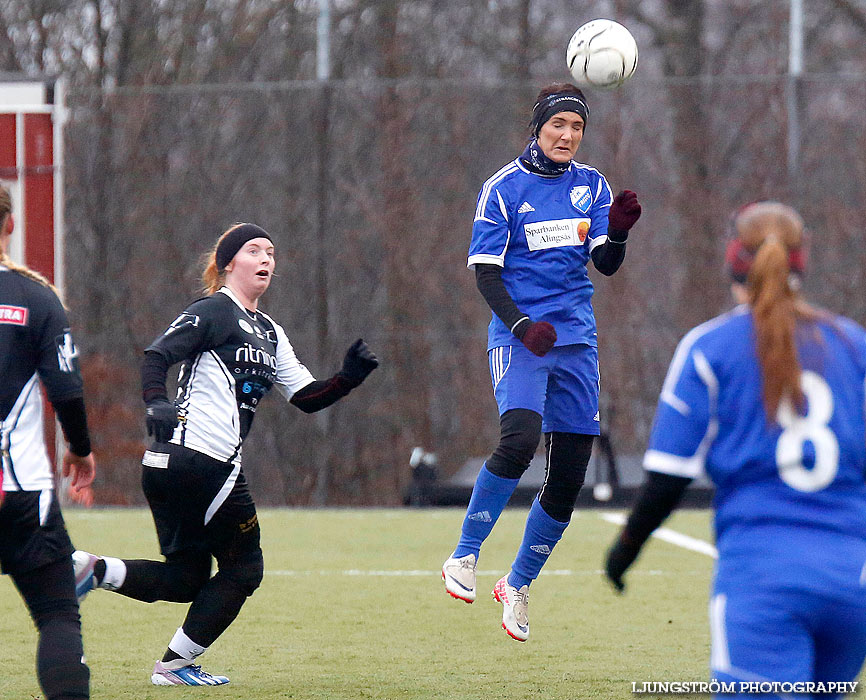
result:
[(478, 197), (468, 266), (493, 311), (487, 350), (500, 442), (475, 482), (460, 540), (442, 566), (446, 591), (475, 600), (481, 544), (545, 434), (547, 472), (523, 543), (493, 590), (502, 626), (529, 636), (528, 590), (562, 537), (599, 434), (598, 352), (586, 266), (612, 275), (640, 216), (634, 192), (611, 196), (604, 176), (573, 160), (589, 108), (574, 85), (545, 87), (532, 139)]

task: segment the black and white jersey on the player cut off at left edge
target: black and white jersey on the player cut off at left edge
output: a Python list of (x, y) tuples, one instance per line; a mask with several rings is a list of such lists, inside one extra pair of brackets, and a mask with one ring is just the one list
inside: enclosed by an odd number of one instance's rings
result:
[(53, 488), (42, 388), (51, 402), (82, 396), (66, 311), (48, 287), (0, 265), (0, 455), (4, 491)]

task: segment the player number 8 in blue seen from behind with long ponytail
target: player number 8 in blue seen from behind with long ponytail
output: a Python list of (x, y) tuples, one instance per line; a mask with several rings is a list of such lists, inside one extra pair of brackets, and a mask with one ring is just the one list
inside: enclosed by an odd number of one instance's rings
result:
[(706, 470), (719, 551), (713, 678), (741, 691), (850, 682), (866, 657), (866, 332), (797, 291), (804, 232), (793, 209), (748, 205), (733, 228), (728, 267), (744, 303), (680, 342), (647, 482), (607, 576), (623, 590), (643, 543)]

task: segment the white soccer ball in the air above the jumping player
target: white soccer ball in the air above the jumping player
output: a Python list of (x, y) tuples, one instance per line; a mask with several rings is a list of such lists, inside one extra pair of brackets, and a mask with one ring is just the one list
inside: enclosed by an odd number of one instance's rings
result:
[(565, 59), (578, 85), (610, 90), (634, 75), (637, 43), (618, 22), (594, 19), (572, 35)]

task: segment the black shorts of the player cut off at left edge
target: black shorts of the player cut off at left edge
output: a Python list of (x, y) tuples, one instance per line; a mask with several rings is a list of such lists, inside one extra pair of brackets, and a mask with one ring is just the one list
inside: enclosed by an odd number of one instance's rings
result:
[(73, 549), (54, 491), (6, 493), (0, 506), (0, 571), (23, 574), (68, 558)]

